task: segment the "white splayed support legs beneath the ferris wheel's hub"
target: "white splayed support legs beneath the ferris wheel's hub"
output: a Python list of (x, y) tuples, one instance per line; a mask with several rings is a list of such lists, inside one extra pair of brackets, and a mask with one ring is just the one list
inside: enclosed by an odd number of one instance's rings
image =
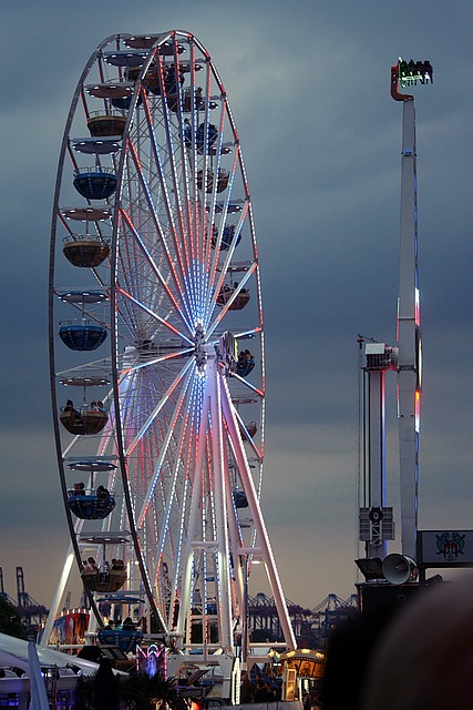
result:
[[(234, 407), (232, 405), (232, 395), (229, 392), (226, 377), (222, 363), (215, 349), (208, 348), (206, 352), (206, 390), (204, 395), (204, 406), (200, 416), (199, 436), (197, 440), (197, 457), (195, 477), (199, 476), (199, 468), (202, 467), (202, 456), (205, 449), (205, 438), (208, 436), (208, 418), (215, 424), (213, 433), (213, 456), (214, 456), (214, 480), (219, 483), (215, 487), (215, 539), (202, 540), (198, 537), (198, 498), (199, 489), (197, 486), (193, 488), (193, 500), (191, 503), (191, 519), (188, 525), (188, 539), (185, 550), (185, 572), (181, 581), (181, 608), (176, 621), (175, 629), (171, 632), (171, 648), (176, 649), (177, 652), (169, 652), (167, 658), (169, 674), (176, 676), (186, 666), (194, 667), (196, 665), (195, 655), (186, 652), (186, 646), (188, 646), (189, 639), (186, 638), (186, 629), (189, 628), (189, 609), (191, 609), (191, 589), (192, 589), (192, 574), (195, 565), (195, 555), (199, 548), (213, 550), (219, 559), (218, 569), (220, 570), (220, 578), (217, 586), (216, 602), (219, 608), (219, 646), (223, 649), (232, 649), (234, 646), (235, 629), (232, 623), (233, 609), (232, 609), (232, 592), (230, 586), (235, 584), (236, 598), (241, 610), (246, 609), (246, 585), (248, 577), (248, 558), (257, 559), (265, 566), (268, 582), (271, 589), (271, 594), (275, 600), (275, 606), (279, 616), (279, 622), (281, 630), (286, 639), (286, 643), (289, 650), (297, 648), (292, 627), (290, 625), (289, 613), (287, 609), (287, 602), (284, 596), (282, 586), (277, 571), (276, 561), (273, 555), (270, 540), (266, 529), (266, 525), (263, 518), (261, 508), (259, 505), (258, 494), (255, 487), (255, 483), (250, 473), (248, 458), (245, 452), (244, 445), (240, 443), (238, 435), (238, 423), (235, 417)], [(222, 413), (222, 417), (219, 416)], [(228, 469), (225, 466), (225, 462), (222, 457), (223, 446), (223, 429), (228, 430), (229, 438), (234, 442), (234, 455), (241, 478), (243, 490), (248, 500), (248, 507), (251, 513), (251, 517), (255, 521), (257, 546), (241, 547), (238, 540), (238, 531), (236, 527), (226, 525), (228, 520), (228, 509), (232, 507), (232, 485), (228, 477)], [(230, 555), (235, 559), (241, 561), (240, 565), (234, 566), (235, 579), (232, 580), (228, 574), (228, 565), (226, 558)], [(181, 610), (182, 609), (182, 610)], [(247, 610), (245, 611), (247, 613)], [(241, 619), (241, 621), (245, 621)], [(245, 627), (245, 623), (244, 623)], [(246, 641), (246, 639), (245, 639)], [(243, 647), (246, 648), (246, 642), (241, 639)], [(204, 653), (204, 662), (210, 661), (210, 656), (214, 656), (212, 645), (208, 645), (208, 655)], [(215, 660), (215, 656), (214, 656)], [(241, 656), (241, 667), (246, 668), (246, 651)], [(222, 653), (216, 657), (216, 662), (220, 666), (224, 672), (224, 683), (230, 683), (230, 674), (234, 671), (234, 658), (232, 653)], [(228, 674), (228, 677), (227, 677)]]

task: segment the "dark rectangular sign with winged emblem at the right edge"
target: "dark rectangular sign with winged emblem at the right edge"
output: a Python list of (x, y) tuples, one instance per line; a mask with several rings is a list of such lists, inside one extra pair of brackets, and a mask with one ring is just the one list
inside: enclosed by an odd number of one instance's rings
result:
[(418, 564), (422, 567), (473, 567), (473, 530), (418, 532)]

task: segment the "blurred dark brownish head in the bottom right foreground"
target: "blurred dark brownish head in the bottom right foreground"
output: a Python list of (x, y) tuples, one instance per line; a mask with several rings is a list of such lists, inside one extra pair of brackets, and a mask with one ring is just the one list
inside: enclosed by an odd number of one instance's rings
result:
[(464, 710), (473, 698), (473, 579), (428, 589), (382, 636), (363, 710)]

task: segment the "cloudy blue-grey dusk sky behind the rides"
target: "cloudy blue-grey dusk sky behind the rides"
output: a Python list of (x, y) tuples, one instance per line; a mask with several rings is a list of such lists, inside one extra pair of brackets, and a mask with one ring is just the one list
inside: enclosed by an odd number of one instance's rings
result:
[[(68, 547), (48, 373), (51, 210), (76, 81), (116, 32), (188, 30), (226, 85), (264, 280), (263, 509), (286, 597), (310, 608), (329, 592), (347, 598), (357, 580), (357, 334), (395, 339), (402, 105), (390, 98), (390, 67), (399, 55), (432, 62), (434, 85), (415, 90), (420, 527), (472, 528), (470, 0), (18, 0), (2, 13), (0, 566), (9, 594), (20, 565), (27, 590), (49, 606)], [(388, 504), (398, 510), (391, 377)]]

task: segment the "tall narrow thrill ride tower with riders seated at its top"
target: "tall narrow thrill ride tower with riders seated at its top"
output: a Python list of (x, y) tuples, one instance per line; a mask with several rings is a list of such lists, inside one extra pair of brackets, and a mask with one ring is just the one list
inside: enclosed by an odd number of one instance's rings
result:
[[(364, 345), (363, 462), (360, 540), (366, 558), (357, 560), (367, 580), (402, 584), (414, 578), (418, 532), (419, 432), (422, 343), (418, 272), (418, 204), (414, 97), (400, 89), (433, 82), (429, 61), (403, 61), (391, 68), (391, 95), (402, 103), (401, 217), (397, 344), (359, 337)], [(388, 555), (394, 539), (393, 511), (385, 503), (385, 374), (398, 375), (400, 521), (402, 555)]]

